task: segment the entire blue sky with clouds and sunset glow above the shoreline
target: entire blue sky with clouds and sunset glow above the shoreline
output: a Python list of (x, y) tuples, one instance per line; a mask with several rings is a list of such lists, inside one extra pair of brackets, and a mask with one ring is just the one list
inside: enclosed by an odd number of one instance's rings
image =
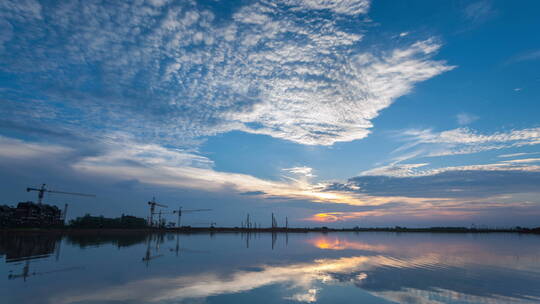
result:
[[(0, 2), (0, 204), (539, 226), (540, 3)], [(171, 216), (169, 220), (174, 220)]]

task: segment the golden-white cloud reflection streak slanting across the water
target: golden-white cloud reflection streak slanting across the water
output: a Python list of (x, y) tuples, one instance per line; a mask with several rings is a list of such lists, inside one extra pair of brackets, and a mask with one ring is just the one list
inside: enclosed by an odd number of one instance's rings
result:
[[(373, 259), (373, 260), (372, 260)], [(113, 285), (89, 293), (87, 291), (69, 291), (54, 296), (54, 303), (132, 301), (135, 299), (148, 302), (182, 301), (192, 298), (206, 298), (222, 294), (249, 291), (255, 288), (287, 284), (290, 289), (302, 289), (302, 296), (294, 294), (292, 298), (311, 302), (316, 298), (314, 285), (331, 279), (331, 275), (347, 273), (357, 268), (373, 267), (377, 262), (390, 261), (384, 257), (347, 257), (339, 259), (318, 259), (315, 261), (289, 265), (259, 265), (259, 271), (234, 271), (227, 276), (208, 272), (176, 277), (156, 277), (134, 280), (125, 284)], [(398, 264), (394, 260), (394, 265)], [(309, 296), (306, 296), (309, 295)], [(290, 298), (290, 297), (287, 297)]]

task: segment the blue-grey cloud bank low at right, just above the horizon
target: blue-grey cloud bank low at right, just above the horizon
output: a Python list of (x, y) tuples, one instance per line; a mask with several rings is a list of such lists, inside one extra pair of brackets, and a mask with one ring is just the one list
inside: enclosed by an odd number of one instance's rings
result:
[[(538, 160), (527, 160), (532, 162)], [(404, 176), (379, 173), (326, 185), (329, 191), (354, 193), (367, 207), (318, 212), (305, 220), (355, 224), (369, 221), (369, 226), (489, 221), (511, 226), (523, 225), (520, 222), (534, 225), (533, 217), (540, 214), (538, 165), (508, 162), (431, 169)]]

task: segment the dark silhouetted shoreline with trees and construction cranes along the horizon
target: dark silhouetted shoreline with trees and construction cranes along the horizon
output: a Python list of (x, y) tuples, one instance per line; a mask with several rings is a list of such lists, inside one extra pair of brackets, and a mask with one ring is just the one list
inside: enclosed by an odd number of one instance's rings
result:
[[(304, 233), (304, 232), (333, 232), (333, 231), (381, 231), (381, 232), (442, 232), (442, 233), (489, 233), (489, 232), (515, 232), (515, 233), (540, 233), (538, 228), (477, 228), (471, 227), (429, 227), (429, 228), (407, 228), (407, 227), (369, 227), (360, 228), (328, 228), (322, 227), (289, 227), (289, 219), (285, 216), (282, 220), (282, 225), (278, 224), (278, 219), (274, 213), (271, 213), (270, 225), (267, 226), (263, 222), (256, 222), (248, 213), (245, 219), (241, 220), (239, 226), (224, 227), (217, 226), (214, 221), (207, 222), (190, 222), (191, 225), (184, 225), (182, 216), (190, 215), (198, 212), (210, 212), (212, 209), (183, 209), (182, 206), (175, 209), (168, 209), (169, 206), (157, 202), (156, 198), (146, 202), (149, 213), (146, 218), (136, 217), (132, 215), (122, 214), (120, 217), (107, 218), (104, 216), (92, 216), (85, 214), (84, 216), (76, 217), (72, 220), (67, 220), (68, 204), (64, 204), (62, 208), (54, 204), (45, 204), (43, 202), (46, 193), (54, 193), (61, 195), (70, 195), (78, 197), (92, 198), (95, 194), (57, 191), (47, 188), (46, 184), (42, 184), (39, 188), (28, 187), (27, 192), (36, 192), (37, 201), (19, 202), (16, 206), (0, 205), (0, 230), (10, 229), (47, 229), (47, 230), (90, 230), (90, 229), (130, 229), (130, 230), (159, 230), (164, 232), (182, 232), (182, 233), (198, 233), (198, 232), (239, 232), (239, 233)], [(142, 203), (142, 202), (141, 202)], [(192, 226), (196, 225), (196, 226)]]

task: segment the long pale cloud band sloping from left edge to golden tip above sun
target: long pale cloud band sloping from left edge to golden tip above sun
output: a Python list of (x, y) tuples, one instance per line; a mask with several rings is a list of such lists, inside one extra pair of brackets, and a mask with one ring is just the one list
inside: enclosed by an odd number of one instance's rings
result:
[(92, 143), (98, 149), (86, 151), (77, 146), (72, 148), (0, 137), (0, 162), (13, 164), (16, 161), (15, 166), (19, 166), (20, 162), (52, 159), (63, 166), (64, 174), (74, 171), (79, 176), (107, 178), (117, 185), (136, 181), (147, 185), (215, 193), (229, 190), (240, 195), (277, 198), (276, 201), (364, 204), (347, 193), (323, 190), (320, 185), (311, 184), (305, 176), (299, 179), (284, 176), (282, 180), (276, 181), (221, 172), (213, 169), (211, 160), (194, 151), (140, 143), (122, 134), (112, 134), (108, 138)]

